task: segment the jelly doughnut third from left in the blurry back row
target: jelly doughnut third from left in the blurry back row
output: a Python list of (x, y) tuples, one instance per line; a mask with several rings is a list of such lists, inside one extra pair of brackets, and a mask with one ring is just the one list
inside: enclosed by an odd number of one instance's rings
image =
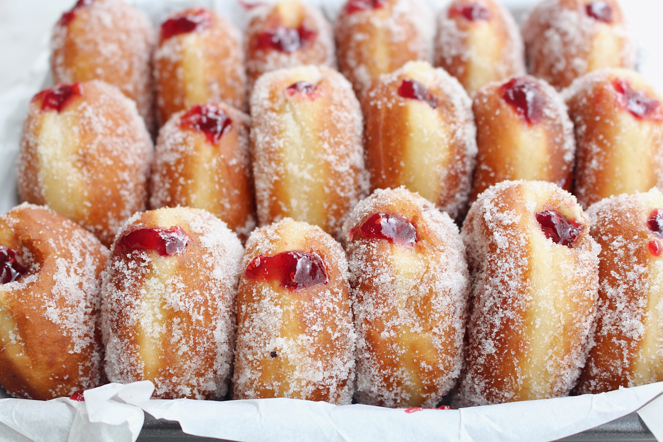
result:
[(331, 25), (322, 12), (298, 0), (253, 8), (247, 27), (249, 84), (265, 72), (302, 64), (336, 67)]

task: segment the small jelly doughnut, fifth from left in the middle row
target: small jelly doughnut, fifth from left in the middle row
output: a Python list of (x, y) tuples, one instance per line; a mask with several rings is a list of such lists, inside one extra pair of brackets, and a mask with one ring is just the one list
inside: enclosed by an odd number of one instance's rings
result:
[(549, 181), (572, 189), (573, 123), (554, 87), (516, 77), (481, 87), (473, 101), (479, 154), (472, 200), (505, 180)]

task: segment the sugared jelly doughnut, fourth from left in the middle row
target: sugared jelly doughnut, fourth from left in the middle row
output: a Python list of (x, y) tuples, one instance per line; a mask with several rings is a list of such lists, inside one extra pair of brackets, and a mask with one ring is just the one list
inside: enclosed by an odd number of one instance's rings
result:
[(408, 62), (362, 97), (371, 190), (405, 186), (452, 218), (467, 210), (477, 154), (472, 102), (441, 68)]

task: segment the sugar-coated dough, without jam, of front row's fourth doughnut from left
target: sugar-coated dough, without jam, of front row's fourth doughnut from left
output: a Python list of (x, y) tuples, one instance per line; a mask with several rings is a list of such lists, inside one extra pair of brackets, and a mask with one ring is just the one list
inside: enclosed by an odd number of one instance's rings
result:
[[(365, 237), (375, 213), (416, 229), (413, 245)], [(469, 283), (458, 228), (404, 188), (376, 190), (343, 227), (361, 404), (434, 408), (460, 374)], [(383, 230), (384, 231), (384, 230)]]

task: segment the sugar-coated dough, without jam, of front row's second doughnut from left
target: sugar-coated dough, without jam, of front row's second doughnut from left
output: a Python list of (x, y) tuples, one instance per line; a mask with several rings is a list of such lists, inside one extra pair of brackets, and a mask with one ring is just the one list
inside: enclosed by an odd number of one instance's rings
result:
[(237, 235), (211, 213), (176, 207), (137, 213), (117, 240), (176, 226), (188, 237), (179, 253), (111, 248), (101, 307), (106, 374), (122, 384), (151, 380), (155, 398), (222, 398), (232, 372), (244, 252)]

